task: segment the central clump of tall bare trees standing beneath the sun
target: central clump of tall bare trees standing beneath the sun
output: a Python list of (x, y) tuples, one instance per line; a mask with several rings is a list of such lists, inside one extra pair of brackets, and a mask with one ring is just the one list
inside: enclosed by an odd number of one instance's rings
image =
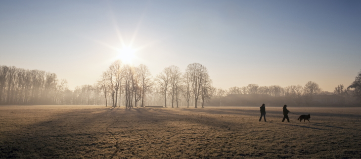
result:
[[(199, 63), (192, 63), (187, 66), (184, 73), (178, 66), (169, 66), (163, 69), (155, 78), (152, 77), (147, 66), (123, 65), (122, 61), (113, 62), (109, 68), (103, 72), (97, 85), (101, 88), (105, 99), (105, 105), (112, 106), (124, 104), (126, 107), (144, 107), (145, 99), (151, 104), (152, 97), (158, 100), (163, 97), (164, 107), (169, 104), (179, 107), (181, 101), (185, 101), (195, 108), (204, 103), (210, 96), (212, 80), (208, 75), (205, 66)], [(123, 95), (122, 95), (123, 93)], [(121, 100), (123, 99), (123, 102)]]

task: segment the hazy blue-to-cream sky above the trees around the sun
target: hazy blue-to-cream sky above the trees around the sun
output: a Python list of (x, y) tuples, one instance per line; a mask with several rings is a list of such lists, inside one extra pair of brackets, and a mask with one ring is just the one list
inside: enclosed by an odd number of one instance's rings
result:
[(221, 88), (348, 86), (361, 69), (360, 0), (1, 0), (0, 65), (93, 84), (121, 54), (153, 76), (207, 67)]

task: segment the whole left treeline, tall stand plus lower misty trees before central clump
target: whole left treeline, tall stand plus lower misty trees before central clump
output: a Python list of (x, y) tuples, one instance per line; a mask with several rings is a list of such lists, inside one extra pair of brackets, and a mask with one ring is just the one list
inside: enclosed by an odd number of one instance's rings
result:
[(54, 73), (0, 66), (0, 104), (102, 105), (104, 99), (97, 90), (83, 85), (72, 91), (67, 80), (59, 80)]

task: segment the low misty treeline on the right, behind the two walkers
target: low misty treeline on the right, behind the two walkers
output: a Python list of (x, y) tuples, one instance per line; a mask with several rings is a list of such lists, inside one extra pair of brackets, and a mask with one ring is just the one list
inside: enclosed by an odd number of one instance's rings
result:
[(322, 91), (319, 85), (313, 81), (307, 82), (304, 86), (291, 85), (286, 87), (249, 84), (243, 87), (231, 87), (228, 90), (219, 89), (218, 92), (219, 94), (213, 96), (209, 102), (210, 105), (252, 106), (259, 105), (261, 102), (261, 104), (268, 103), (269, 106), (282, 106), (282, 104), (345, 106), (360, 103), (355, 97), (355, 89), (345, 89), (343, 84), (339, 84), (333, 92)]

